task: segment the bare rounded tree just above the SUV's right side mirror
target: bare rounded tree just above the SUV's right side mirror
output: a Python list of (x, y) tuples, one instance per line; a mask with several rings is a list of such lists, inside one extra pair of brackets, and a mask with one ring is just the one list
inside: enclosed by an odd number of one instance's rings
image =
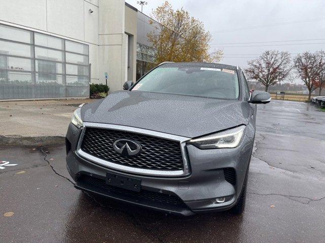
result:
[(288, 52), (265, 51), (261, 56), (247, 62), (245, 72), (249, 79), (254, 79), (265, 86), (273, 86), (285, 79), (293, 65)]

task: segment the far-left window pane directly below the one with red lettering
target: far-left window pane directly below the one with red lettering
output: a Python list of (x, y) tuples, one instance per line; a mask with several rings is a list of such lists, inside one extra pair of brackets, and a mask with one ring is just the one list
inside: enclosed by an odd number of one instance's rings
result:
[(3, 71), (0, 76), (0, 84), (5, 85), (32, 85), (30, 72)]

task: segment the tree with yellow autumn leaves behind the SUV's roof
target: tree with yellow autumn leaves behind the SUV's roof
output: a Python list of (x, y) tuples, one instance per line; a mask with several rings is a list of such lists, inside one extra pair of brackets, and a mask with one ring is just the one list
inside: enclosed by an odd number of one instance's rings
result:
[(198, 19), (183, 8), (176, 11), (167, 1), (153, 10), (150, 21), (154, 30), (148, 39), (156, 49), (156, 62), (218, 62), (222, 51), (209, 53), (212, 36)]

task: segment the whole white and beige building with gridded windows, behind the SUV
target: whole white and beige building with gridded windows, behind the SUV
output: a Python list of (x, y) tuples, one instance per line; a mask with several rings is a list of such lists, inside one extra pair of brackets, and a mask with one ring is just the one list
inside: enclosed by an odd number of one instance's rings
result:
[(149, 17), (122, 0), (0, 0), (0, 100), (121, 90), (155, 65)]

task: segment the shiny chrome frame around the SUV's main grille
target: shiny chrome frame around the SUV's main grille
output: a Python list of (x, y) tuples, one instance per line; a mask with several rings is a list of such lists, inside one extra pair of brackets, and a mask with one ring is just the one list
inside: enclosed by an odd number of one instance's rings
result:
[[(144, 169), (144, 168), (135, 168), (135, 167), (129, 167), (121, 164), (112, 163), (106, 159), (95, 157), (89, 153), (86, 153), (81, 149), (83, 137), (85, 134), (84, 128), (99, 128), (99, 129), (110, 129), (110, 130), (117, 130), (117, 131), (123, 131), (123, 132), (131, 132), (131, 133), (137, 133), (157, 138), (163, 138), (166, 140), (172, 140), (177, 141), (180, 143), (180, 150), (182, 153), (183, 158), (183, 170), (151, 170), (151, 169)], [(128, 127), (128, 126), (120, 126), (120, 125), (112, 125), (112, 124), (100, 124), (100, 123), (88, 123), (84, 122), (83, 131), (81, 132), (78, 147), (77, 147), (77, 154), (81, 157), (84, 157), (96, 164), (105, 166), (107, 168), (131, 173), (131, 174), (140, 174), (140, 175), (146, 175), (146, 176), (158, 176), (158, 177), (180, 177), (180, 176), (187, 176), (190, 173), (187, 153), (186, 153), (186, 141), (188, 141), (190, 138), (187, 137), (181, 137), (146, 129), (140, 129), (140, 128), (134, 128), (134, 127)]]

